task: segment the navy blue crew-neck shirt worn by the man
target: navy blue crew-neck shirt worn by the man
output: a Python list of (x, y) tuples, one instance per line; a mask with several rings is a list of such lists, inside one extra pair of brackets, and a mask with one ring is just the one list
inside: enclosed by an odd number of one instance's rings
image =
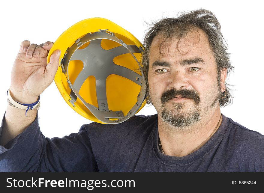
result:
[(159, 150), (157, 114), (85, 124), (78, 133), (52, 139), (41, 133), (36, 117), (0, 146), (0, 171), (264, 171), (264, 136), (222, 115), (219, 129), (201, 148), (175, 157)]

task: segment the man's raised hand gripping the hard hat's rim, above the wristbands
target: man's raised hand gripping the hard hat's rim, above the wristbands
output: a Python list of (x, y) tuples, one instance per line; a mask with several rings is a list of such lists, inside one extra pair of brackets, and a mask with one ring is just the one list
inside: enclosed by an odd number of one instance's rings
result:
[(38, 96), (52, 83), (58, 70), (61, 51), (55, 50), (47, 64), (53, 42), (30, 44), (22, 41), (11, 72), (11, 97), (20, 103), (36, 102)]

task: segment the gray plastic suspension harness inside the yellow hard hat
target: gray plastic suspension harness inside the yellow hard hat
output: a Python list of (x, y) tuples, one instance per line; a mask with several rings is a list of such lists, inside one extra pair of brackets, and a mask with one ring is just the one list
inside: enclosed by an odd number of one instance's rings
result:
[[(121, 46), (105, 50), (101, 47), (102, 39), (113, 40)], [(87, 42), (90, 42), (87, 47), (84, 49), (78, 49)], [(115, 64), (113, 62), (113, 58), (122, 54), (130, 53), (140, 67), (139, 62), (133, 53), (141, 52), (141, 47), (138, 48), (135, 45), (126, 45), (121, 39), (118, 39), (112, 32), (107, 30), (99, 30), (98, 32), (88, 33), (82, 38), (76, 40), (75, 43), (66, 50), (64, 57), (61, 58), (60, 62), (61, 70), (66, 75), (68, 79), (67, 82), (71, 89), (71, 99), (69, 102), (75, 106), (74, 102), (76, 102), (78, 97), (86, 108), (88, 108), (88, 110), (91, 111), (91, 113), (94, 114), (98, 120), (104, 123), (116, 124), (129, 119), (131, 116), (136, 114), (143, 101), (146, 99), (144, 75), (143, 72), (141, 72), (142, 76), (140, 76), (133, 70)], [(68, 78), (68, 64), (72, 60), (80, 60), (83, 63), (82, 71), (75, 79), (74, 84), (72, 84)], [(111, 111), (108, 109), (106, 79), (111, 74), (123, 76), (141, 86), (140, 92), (137, 95), (136, 104), (125, 116), (122, 111)], [(79, 90), (88, 76), (94, 76), (96, 79), (95, 87), (98, 108), (85, 102), (85, 100), (79, 95)], [(117, 120), (109, 120), (109, 118)]]

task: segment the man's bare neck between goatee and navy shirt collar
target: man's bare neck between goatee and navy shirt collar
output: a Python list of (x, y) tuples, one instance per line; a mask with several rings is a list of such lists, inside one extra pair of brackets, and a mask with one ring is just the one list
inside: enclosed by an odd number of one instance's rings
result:
[(202, 147), (220, 126), (220, 108), (211, 115), (201, 117), (198, 123), (179, 129), (164, 123), (158, 116), (158, 132), (162, 150), (166, 155), (183, 157)]

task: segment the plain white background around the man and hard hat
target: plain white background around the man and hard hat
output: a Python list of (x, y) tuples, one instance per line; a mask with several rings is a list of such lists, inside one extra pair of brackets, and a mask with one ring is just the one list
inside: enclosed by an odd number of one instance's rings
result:
[[(4, 2), (4, 3), (3, 3)], [(233, 104), (221, 112), (245, 127), (264, 134), (263, 127), (263, 6), (261, 1), (2, 1), (1, 2), (1, 76), (0, 114), (7, 106), (13, 61), (23, 40), (41, 44), (55, 40), (70, 26), (83, 19), (104, 17), (115, 22), (143, 42), (146, 22), (161, 17), (176, 17), (179, 11), (205, 8), (212, 11), (222, 26), (229, 45), (234, 73), (229, 83), (235, 96)], [(137, 114), (156, 114), (145, 105)], [(62, 137), (78, 132), (90, 120), (70, 108), (53, 82), (41, 94), (39, 110), (41, 131), (46, 137)]]

